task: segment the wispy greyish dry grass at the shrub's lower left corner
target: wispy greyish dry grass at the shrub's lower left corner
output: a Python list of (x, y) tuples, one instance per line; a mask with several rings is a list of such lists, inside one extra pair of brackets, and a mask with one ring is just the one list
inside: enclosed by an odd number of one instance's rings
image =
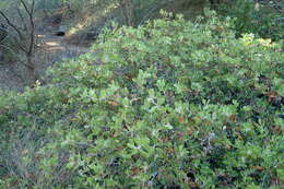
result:
[(9, 188), (36, 186), (49, 189), (59, 184), (69, 184), (73, 173), (66, 168), (68, 152), (54, 151), (48, 147), (49, 142), (52, 140), (33, 131), (25, 131), (12, 139), (9, 147), (0, 153), (4, 161), (2, 166), (7, 172), (5, 178), (14, 180), (9, 184)]

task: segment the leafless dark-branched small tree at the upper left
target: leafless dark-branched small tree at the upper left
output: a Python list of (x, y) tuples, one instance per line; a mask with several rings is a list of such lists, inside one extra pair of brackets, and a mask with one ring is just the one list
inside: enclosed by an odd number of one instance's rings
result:
[[(24, 57), (17, 59), (27, 69), (27, 83), (36, 80), (35, 74), (35, 0), (13, 0), (8, 11), (0, 10), (0, 17), (7, 26), (11, 48)], [(13, 11), (13, 12), (11, 12)], [(19, 54), (16, 51), (16, 54)]]

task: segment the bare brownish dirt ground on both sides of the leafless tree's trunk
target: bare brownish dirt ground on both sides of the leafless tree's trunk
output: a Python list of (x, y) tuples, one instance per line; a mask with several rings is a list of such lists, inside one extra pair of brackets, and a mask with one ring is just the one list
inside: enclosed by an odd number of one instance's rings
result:
[[(44, 74), (47, 68), (56, 61), (74, 58), (90, 51), (86, 46), (72, 45), (73, 43), (66, 40), (64, 36), (54, 35), (56, 29), (57, 27), (37, 32), (38, 44), (35, 54), (37, 75)], [(23, 91), (25, 79), (19, 75), (22, 67), (21, 63), (0, 62), (0, 90)]]

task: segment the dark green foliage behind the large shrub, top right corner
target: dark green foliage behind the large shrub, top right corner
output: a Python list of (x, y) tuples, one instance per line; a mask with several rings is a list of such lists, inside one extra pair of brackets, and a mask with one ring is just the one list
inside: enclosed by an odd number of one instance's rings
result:
[[(262, 38), (273, 40), (284, 39), (283, 13), (281, 1), (235, 0), (217, 7), (218, 13), (234, 17), (232, 27), (240, 36), (244, 33), (253, 33)], [(280, 8), (274, 8), (280, 7)]]

